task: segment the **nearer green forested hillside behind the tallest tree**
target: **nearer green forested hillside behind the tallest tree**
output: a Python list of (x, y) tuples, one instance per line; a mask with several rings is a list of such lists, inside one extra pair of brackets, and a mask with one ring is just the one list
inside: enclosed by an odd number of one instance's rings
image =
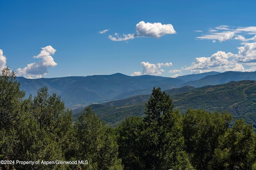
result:
[[(227, 84), (194, 88), (185, 86), (166, 90), (173, 99), (174, 109), (185, 113), (188, 107), (206, 111), (228, 111), (234, 118), (242, 117), (256, 127), (256, 81), (244, 80)], [(132, 115), (143, 116), (150, 95), (91, 105), (92, 110), (114, 126)], [(74, 110), (74, 119), (82, 112)]]

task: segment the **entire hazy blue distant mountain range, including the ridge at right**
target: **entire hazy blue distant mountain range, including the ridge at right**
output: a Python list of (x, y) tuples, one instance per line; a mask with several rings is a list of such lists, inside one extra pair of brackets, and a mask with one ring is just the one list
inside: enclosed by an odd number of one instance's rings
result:
[(126, 76), (116, 73), (112, 75), (39, 79), (17, 77), (17, 80), (20, 82), (21, 89), (26, 91), (26, 97), (30, 94), (35, 96), (39, 88), (47, 86), (48, 92), (61, 96), (67, 107), (78, 108), (93, 103), (150, 94), (154, 86), (160, 87), (162, 90), (168, 90), (182, 86), (202, 87), (224, 84), (230, 81), (256, 80), (256, 72), (208, 72), (178, 78), (150, 75)]

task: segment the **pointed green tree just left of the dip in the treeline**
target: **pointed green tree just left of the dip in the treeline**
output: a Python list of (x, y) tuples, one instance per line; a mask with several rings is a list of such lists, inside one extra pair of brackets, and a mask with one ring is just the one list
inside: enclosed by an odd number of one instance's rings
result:
[(76, 159), (88, 160), (82, 169), (122, 170), (121, 159), (118, 159), (116, 137), (110, 127), (102, 123), (98, 116), (86, 107), (78, 116), (74, 125), (76, 130)]

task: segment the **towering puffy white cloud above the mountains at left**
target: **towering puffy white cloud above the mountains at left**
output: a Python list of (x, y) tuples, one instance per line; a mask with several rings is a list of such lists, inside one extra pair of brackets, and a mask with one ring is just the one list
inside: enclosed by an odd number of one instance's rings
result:
[(30, 63), (23, 69), (18, 68), (17, 75), (24, 76), (26, 78), (42, 78), (42, 75), (46, 75), (48, 73), (47, 68), (57, 65), (51, 56), (54, 55), (55, 52), (56, 50), (50, 45), (42, 48), (40, 54), (33, 57), (41, 60), (38, 63)]

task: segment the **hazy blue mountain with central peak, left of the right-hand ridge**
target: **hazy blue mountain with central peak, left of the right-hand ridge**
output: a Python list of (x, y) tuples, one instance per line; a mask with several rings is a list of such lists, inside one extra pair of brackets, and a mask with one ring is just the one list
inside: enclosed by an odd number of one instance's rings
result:
[(26, 79), (17, 77), (21, 90), (26, 97), (35, 96), (37, 90), (47, 86), (50, 94), (61, 96), (66, 106), (78, 104), (88, 105), (94, 102), (117, 100), (134, 95), (150, 94), (154, 86), (163, 89), (178, 88), (184, 83), (177, 78), (161, 76), (126, 76), (116, 73), (112, 75), (95, 75), (86, 77), (39, 78)]

